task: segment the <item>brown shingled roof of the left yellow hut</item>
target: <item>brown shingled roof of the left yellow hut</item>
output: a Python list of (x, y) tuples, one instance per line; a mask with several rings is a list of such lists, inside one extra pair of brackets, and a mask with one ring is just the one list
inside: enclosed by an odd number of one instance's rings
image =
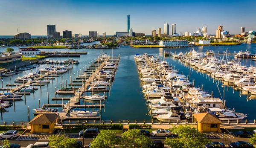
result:
[(29, 125), (48, 125), (55, 122), (57, 118), (58, 115), (55, 113), (43, 113), (35, 116), (35, 118), (29, 122)]

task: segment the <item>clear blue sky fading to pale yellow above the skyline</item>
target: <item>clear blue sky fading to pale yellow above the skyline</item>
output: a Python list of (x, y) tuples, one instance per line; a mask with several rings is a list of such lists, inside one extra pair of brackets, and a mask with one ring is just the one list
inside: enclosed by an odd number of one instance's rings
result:
[(164, 23), (177, 24), (177, 33), (196, 32), (207, 26), (215, 34), (218, 26), (239, 34), (256, 30), (256, 0), (0, 0), (0, 35), (47, 35), (47, 25), (88, 35), (114, 35), (127, 31), (127, 15), (133, 32), (151, 35)]

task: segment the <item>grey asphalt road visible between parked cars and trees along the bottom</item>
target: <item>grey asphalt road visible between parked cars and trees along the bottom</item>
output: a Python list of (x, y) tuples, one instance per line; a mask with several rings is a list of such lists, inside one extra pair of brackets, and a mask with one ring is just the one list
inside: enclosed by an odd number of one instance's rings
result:
[[(44, 136), (44, 135), (38, 135), (38, 136), (41, 136), (41, 137), (45, 137), (45, 139), (30, 139), (30, 138), (27, 138), (27, 139), (23, 139), (22, 135), (20, 136), (22, 139), (20, 139), (20, 137), (18, 137), (17, 139), (14, 139), (14, 140), (11, 140), (9, 139), (9, 142), (11, 143), (16, 143), (16, 144), (20, 144), (21, 145), (21, 148), (26, 148), (27, 145), (29, 144), (33, 144), (35, 142), (49, 142), (49, 140), (47, 139), (47, 136)], [(48, 136), (49, 137), (49, 136)], [(69, 137), (71, 138), (74, 138), (76, 139), (77, 141), (81, 141), (83, 142), (83, 139), (79, 139), (77, 138), (78, 137), (78, 134), (72, 134), (72, 135), (69, 135)], [(172, 137), (171, 137), (172, 138)], [(165, 141), (165, 137), (157, 137), (157, 138), (152, 138), (154, 140), (161, 140), (163, 143)], [(248, 138), (237, 138), (237, 137), (233, 137), (233, 138), (209, 138), (210, 140), (212, 141), (218, 141), (218, 142), (222, 142), (224, 143), (225, 145), (228, 145), (230, 142), (236, 142), (236, 141), (246, 141), (246, 142), (250, 142)], [(87, 146), (90, 144), (90, 142), (93, 141), (92, 138), (84, 138), (84, 145), (85, 145), (85, 148), (87, 148)], [(168, 146), (165, 145), (165, 148), (169, 148)]]

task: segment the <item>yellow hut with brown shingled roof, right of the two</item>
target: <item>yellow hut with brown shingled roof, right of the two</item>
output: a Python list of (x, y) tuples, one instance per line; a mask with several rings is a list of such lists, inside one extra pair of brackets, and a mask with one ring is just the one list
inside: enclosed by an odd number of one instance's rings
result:
[(212, 113), (194, 113), (193, 116), (198, 122), (198, 131), (221, 132), (221, 120)]

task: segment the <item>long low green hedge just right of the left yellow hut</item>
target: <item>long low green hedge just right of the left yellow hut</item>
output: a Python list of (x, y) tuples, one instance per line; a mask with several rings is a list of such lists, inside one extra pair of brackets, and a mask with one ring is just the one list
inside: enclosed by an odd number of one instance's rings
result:
[[(83, 128), (83, 125), (63, 125), (64, 129), (69, 128)], [(122, 124), (113, 124), (113, 125), (106, 125), (106, 124), (100, 124), (100, 125), (84, 125), (84, 128), (99, 128), (99, 129), (120, 129), (122, 130), (124, 125)]]

